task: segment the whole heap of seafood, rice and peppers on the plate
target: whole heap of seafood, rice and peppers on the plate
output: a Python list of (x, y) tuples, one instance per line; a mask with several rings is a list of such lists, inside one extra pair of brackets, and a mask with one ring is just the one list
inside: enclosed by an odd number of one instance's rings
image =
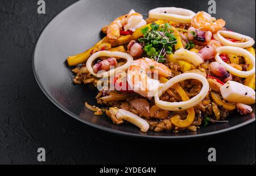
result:
[(131, 10), (67, 63), (74, 83), (97, 87), (98, 105), (85, 102), (94, 115), (142, 132), (197, 131), (253, 112), (255, 41), (225, 25), (204, 11)]

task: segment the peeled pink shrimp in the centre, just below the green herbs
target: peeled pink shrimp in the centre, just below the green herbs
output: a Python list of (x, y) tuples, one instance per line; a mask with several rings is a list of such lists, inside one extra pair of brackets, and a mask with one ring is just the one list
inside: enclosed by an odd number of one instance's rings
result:
[(150, 58), (139, 58), (133, 61), (127, 72), (127, 82), (129, 86), (143, 97), (154, 97), (156, 91), (160, 87), (160, 82), (150, 78), (147, 74), (155, 73), (162, 77), (171, 77), (171, 70)]

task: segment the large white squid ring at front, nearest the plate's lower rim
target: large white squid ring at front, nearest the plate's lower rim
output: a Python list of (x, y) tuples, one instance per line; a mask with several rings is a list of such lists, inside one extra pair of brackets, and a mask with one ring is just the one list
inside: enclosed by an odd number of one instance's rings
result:
[[(184, 81), (186, 79), (196, 79), (203, 84), (203, 87), (199, 94), (197, 94), (195, 97), (185, 102), (164, 102), (163, 100), (160, 100), (159, 97), (161, 97), (164, 91), (168, 90), (170, 87), (174, 86), (176, 83)], [(155, 104), (159, 108), (162, 108), (163, 110), (167, 110), (167, 111), (188, 110), (189, 108), (192, 108), (196, 106), (196, 104), (200, 103), (201, 100), (203, 100), (207, 96), (208, 91), (209, 91), (209, 82), (205, 77), (196, 73), (183, 73), (183, 74), (180, 74), (179, 76), (171, 78), (169, 81), (167, 81), (164, 84), (163, 87), (161, 87), (158, 90), (158, 92), (155, 94)]]

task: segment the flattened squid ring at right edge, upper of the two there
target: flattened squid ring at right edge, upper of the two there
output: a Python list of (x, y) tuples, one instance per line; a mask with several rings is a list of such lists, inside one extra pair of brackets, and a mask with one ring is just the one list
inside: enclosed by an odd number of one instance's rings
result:
[[(240, 47), (240, 48), (249, 48), (251, 46), (254, 45), (255, 41), (253, 38), (246, 36), (246, 35), (242, 35), (240, 33), (237, 32), (232, 32), (232, 31), (223, 31), (220, 30), (217, 33), (214, 33), (213, 35), (215, 40), (220, 41), (220, 43), (222, 45), (225, 46), (231, 46), (231, 47)], [(226, 38), (230, 38), (230, 39), (236, 39), (238, 41), (243, 41), (245, 40), (245, 42), (242, 43), (234, 43), (232, 41), (229, 41)]]

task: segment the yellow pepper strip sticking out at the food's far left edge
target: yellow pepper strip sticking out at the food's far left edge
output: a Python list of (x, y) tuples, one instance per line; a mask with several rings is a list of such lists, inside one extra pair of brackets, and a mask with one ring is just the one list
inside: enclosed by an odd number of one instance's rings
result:
[(79, 64), (82, 64), (88, 60), (90, 57), (90, 52), (97, 47), (97, 45), (100, 45), (102, 43), (108, 43), (108, 37), (104, 37), (102, 40), (98, 41), (92, 48), (86, 50), (85, 52), (82, 52), (75, 56), (69, 56), (67, 58), (67, 62), (69, 66), (76, 66)]

